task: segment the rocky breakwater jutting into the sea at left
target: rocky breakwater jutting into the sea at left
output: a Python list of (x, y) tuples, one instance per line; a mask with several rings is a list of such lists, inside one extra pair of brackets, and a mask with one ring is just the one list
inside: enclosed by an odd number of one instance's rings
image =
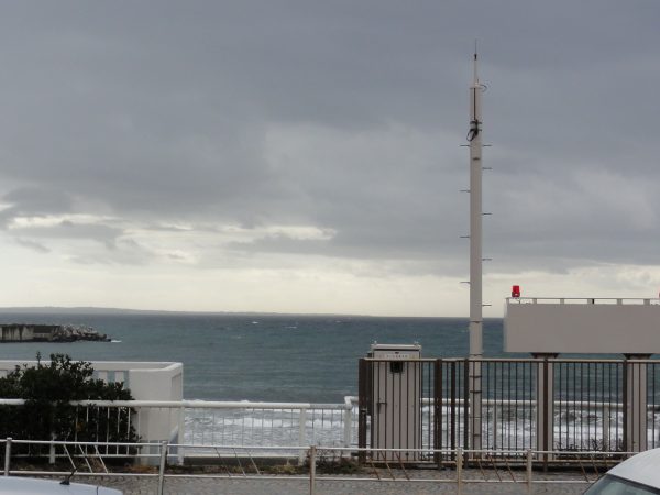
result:
[(0, 342), (110, 342), (105, 333), (86, 324), (0, 324)]

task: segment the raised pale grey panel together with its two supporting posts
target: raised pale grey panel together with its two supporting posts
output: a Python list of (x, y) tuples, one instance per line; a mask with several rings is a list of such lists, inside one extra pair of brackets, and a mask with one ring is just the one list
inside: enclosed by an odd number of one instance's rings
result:
[[(560, 353), (624, 354), (626, 391), (626, 449), (639, 452), (647, 449), (648, 370), (651, 354), (660, 353), (659, 299), (602, 298), (520, 298), (506, 300), (504, 318), (504, 350), (529, 352), (536, 356), (553, 358)], [(552, 361), (539, 367), (539, 394), (552, 397), (548, 376), (552, 376)], [(543, 385), (547, 383), (548, 385)], [(553, 426), (544, 408), (551, 403), (539, 403), (537, 411), (547, 417), (537, 425), (541, 442), (551, 439)], [(539, 443), (541, 450), (549, 444)]]

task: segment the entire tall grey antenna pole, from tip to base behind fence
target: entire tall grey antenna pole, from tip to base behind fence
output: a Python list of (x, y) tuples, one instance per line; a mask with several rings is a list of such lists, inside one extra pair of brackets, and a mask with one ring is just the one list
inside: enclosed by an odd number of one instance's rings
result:
[[(482, 85), (476, 73), (476, 51), (474, 53), (474, 77), (470, 87), (470, 359), (483, 355), (483, 299), (482, 299)], [(474, 450), (482, 448), (481, 438), (481, 362), (470, 367), (470, 415), (472, 417), (472, 444)]]

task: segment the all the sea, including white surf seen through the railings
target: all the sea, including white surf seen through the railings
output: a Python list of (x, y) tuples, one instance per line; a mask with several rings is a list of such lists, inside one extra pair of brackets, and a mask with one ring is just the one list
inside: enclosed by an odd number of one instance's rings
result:
[[(344, 396), (356, 395), (358, 360), (375, 341), (418, 342), (425, 358), (464, 358), (469, 353), (468, 320), (463, 318), (3, 314), (0, 322), (88, 324), (113, 340), (0, 343), (0, 360), (34, 360), (40, 352), (44, 359), (51, 353), (65, 353), (86, 361), (182, 362), (184, 397), (188, 399), (339, 404)], [(484, 321), (484, 355), (507, 355), (503, 352), (501, 319)], [(496, 427), (485, 426), (485, 438), (492, 438), (497, 430), (501, 446), (506, 447), (512, 441), (518, 446), (516, 439), (519, 439), (522, 443), (518, 447), (530, 447), (531, 410), (524, 411), (515, 421), (507, 421), (503, 413)], [(425, 407), (422, 414), (428, 416), (429, 407)], [(588, 447), (581, 444), (590, 441), (582, 439), (585, 421), (595, 422), (590, 439), (603, 438), (605, 426), (588, 411), (584, 417), (579, 415), (569, 420), (560, 414), (556, 414), (556, 439), (575, 438), (578, 447)], [(294, 444), (299, 428), (296, 417), (289, 416), (292, 414), (286, 411), (233, 411), (230, 417), (216, 411), (193, 411), (185, 418), (185, 439), (193, 443), (204, 443), (210, 438), (215, 443)], [(654, 414), (650, 419), (649, 438), (653, 438), (653, 443), (660, 418)], [(622, 413), (614, 413), (609, 422), (610, 438), (620, 436), (622, 421)], [(292, 428), (283, 428), (289, 422)], [(461, 424), (459, 421), (459, 428)], [(309, 441), (334, 444), (342, 438), (339, 417), (337, 421), (312, 417), (306, 426)], [(292, 438), (278, 437), (289, 433)], [(264, 438), (268, 435), (273, 438)]]

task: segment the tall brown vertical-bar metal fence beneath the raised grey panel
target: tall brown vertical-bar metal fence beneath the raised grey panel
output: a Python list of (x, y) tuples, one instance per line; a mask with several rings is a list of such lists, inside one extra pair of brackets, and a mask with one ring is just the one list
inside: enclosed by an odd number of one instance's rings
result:
[[(388, 366), (383, 360), (360, 362), (361, 448), (637, 452), (660, 447), (658, 361), (446, 359)], [(400, 383), (415, 387), (406, 392)], [(403, 428), (406, 418), (420, 424)]]

